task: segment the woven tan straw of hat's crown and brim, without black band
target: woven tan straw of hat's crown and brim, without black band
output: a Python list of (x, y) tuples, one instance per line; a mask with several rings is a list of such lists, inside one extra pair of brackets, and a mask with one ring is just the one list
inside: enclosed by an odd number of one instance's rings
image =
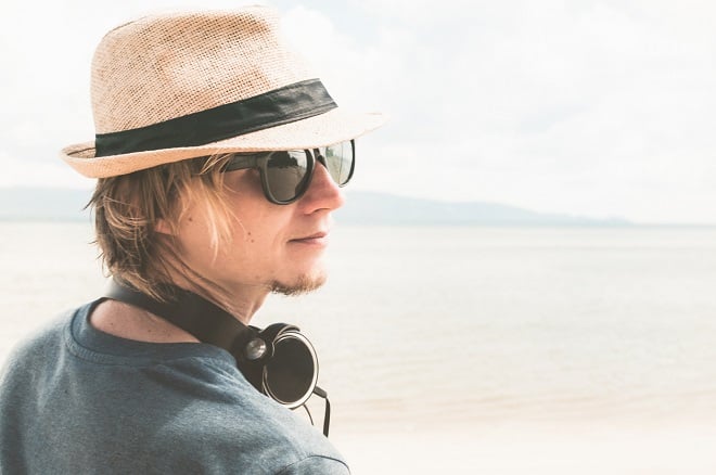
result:
[[(317, 76), (278, 33), (272, 9), (175, 13), (111, 30), (92, 61), (97, 133), (150, 126), (253, 98)], [(62, 157), (88, 177), (110, 177), (219, 152), (305, 149), (348, 140), (380, 127), (382, 114), (332, 110), (201, 146), (94, 156), (94, 143)]]

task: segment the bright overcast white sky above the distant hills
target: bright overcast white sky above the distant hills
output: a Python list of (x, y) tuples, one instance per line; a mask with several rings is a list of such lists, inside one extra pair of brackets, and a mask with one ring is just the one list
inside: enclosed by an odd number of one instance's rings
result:
[[(258, 1), (341, 107), (381, 111), (350, 187), (643, 223), (716, 224), (716, 3)], [(151, 4), (151, 7), (150, 7)], [(91, 188), (92, 52), (146, 13), (226, 0), (10, 2), (0, 187)]]

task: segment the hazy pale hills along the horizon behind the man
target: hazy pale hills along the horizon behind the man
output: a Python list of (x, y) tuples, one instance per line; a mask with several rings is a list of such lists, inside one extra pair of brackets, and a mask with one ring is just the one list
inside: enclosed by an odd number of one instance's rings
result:
[[(89, 220), (84, 207), (91, 190), (0, 188), (1, 220)], [(347, 192), (338, 222), (353, 224), (480, 224), (480, 226), (626, 226), (623, 219), (598, 220), (535, 213), (496, 203), (457, 203), (401, 197), (383, 193)]]

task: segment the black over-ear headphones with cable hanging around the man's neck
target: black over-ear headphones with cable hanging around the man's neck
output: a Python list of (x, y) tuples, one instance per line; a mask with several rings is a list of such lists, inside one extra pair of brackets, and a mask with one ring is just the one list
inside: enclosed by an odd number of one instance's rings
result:
[[(104, 298), (148, 310), (200, 342), (226, 349), (236, 360), (239, 371), (259, 393), (289, 409), (305, 407), (312, 394), (325, 399), (323, 434), (328, 437), (331, 405), (327, 393), (317, 386), (316, 350), (297, 326), (273, 323), (260, 330), (244, 325), (194, 293), (174, 285), (165, 288), (174, 298), (159, 301), (112, 279)], [(310, 418), (310, 412), (308, 415)]]

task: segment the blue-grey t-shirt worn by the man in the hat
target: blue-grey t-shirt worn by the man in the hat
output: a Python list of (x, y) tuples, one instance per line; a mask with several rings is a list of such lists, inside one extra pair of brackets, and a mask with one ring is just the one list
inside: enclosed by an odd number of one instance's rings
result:
[(118, 338), (98, 301), (15, 349), (0, 374), (0, 474), (342, 474), (315, 427), (223, 349)]

